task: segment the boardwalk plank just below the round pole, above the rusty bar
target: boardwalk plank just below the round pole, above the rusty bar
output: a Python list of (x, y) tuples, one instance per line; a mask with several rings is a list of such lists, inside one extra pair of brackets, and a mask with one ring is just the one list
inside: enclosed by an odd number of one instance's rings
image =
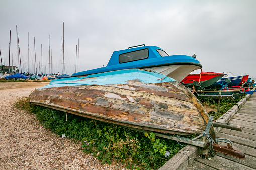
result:
[(218, 137), (219, 138), (224, 138), (224, 139), (229, 139), (232, 141), (232, 143), (237, 143), (237, 144), (241, 144), (244, 146), (248, 146), (251, 148), (255, 148), (256, 149), (256, 141), (250, 140), (250, 139), (246, 139), (243, 137), (237, 137), (237, 136), (233, 136), (233, 135), (228, 135), (225, 133), (218, 133)]

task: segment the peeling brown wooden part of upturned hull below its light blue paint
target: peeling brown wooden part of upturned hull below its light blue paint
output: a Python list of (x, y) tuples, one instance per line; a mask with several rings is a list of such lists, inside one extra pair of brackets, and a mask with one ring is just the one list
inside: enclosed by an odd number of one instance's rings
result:
[(77, 110), (103, 119), (127, 121), (128, 124), (141, 123), (142, 126), (163, 127), (186, 134), (202, 133), (205, 120), (208, 121), (205, 109), (188, 89), (179, 83), (176, 86), (172, 83), (132, 82), (56, 87), (36, 90), (31, 94), (31, 102)]

